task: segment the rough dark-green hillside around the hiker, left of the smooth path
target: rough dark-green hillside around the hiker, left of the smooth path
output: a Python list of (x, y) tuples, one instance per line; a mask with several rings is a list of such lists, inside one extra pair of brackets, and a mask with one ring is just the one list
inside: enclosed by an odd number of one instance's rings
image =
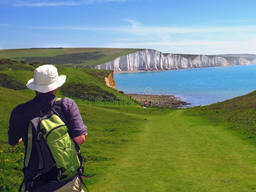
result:
[[(14, 148), (8, 145), (8, 121), (15, 106), (35, 97), (35, 93), (26, 88), (25, 84), (33, 77), (33, 70), (39, 65), (41, 64), (28, 65), (24, 61), (0, 60), (0, 191), (17, 191), (22, 181), (24, 145), (17, 145)], [(95, 168), (91, 164), (111, 161), (113, 153), (105, 154), (107, 148), (116, 150), (125, 144), (122, 140), (128, 139), (127, 131), (136, 132), (136, 125), (139, 125), (139, 122), (136, 122), (136, 118), (127, 120), (126, 115), (116, 117), (115, 113), (108, 113), (106, 116), (104, 110), (95, 108), (121, 104), (130, 106), (131, 100), (128, 97), (106, 86), (104, 78), (108, 77), (111, 71), (63, 67), (58, 67), (58, 70), (60, 75), (67, 75), (66, 83), (57, 93), (58, 97), (71, 97), (76, 101), (84, 124), (90, 132), (89, 141), (81, 147), (84, 152), (84, 166), (90, 164), (84, 178), (87, 178), (86, 182), (89, 184), (97, 182), (97, 179), (90, 181), (90, 178), (100, 173), (102, 166), (97, 165)], [(116, 126), (122, 124), (122, 130), (113, 128), (113, 122)], [(112, 142), (115, 146), (111, 146)]]

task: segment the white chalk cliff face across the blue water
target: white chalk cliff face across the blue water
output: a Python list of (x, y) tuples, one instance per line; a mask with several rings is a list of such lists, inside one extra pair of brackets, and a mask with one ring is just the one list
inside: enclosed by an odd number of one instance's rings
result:
[[(97, 65), (98, 69), (110, 69), (114, 71), (131, 71), (131, 70), (170, 70), (179, 68), (196, 68), (196, 67), (216, 67), (228, 65), (246, 65), (253, 63), (245, 58), (238, 58), (231, 63), (221, 56), (198, 55), (196, 58), (185, 58), (178, 54), (164, 54), (160, 51), (146, 49), (134, 52), (127, 56), (121, 56), (114, 61)], [(256, 60), (254, 60), (256, 63)]]

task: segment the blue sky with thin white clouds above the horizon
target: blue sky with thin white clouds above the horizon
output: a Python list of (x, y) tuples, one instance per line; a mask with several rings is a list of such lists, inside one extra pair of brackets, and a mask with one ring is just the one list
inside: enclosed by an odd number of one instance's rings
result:
[(0, 49), (256, 54), (256, 0), (0, 0)]

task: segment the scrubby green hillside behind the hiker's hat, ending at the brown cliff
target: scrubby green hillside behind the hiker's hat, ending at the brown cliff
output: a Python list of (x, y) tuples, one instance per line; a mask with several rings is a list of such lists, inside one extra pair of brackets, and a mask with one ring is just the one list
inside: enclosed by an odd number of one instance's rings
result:
[[(0, 60), (0, 86), (13, 90), (22, 90), (26, 93), (33, 93), (26, 88), (26, 83), (33, 77), (33, 70), (42, 65), (41, 63), (31, 63), (28, 65), (24, 61), (10, 59)], [(108, 77), (111, 70), (93, 70), (92, 68), (67, 68), (56, 65), (60, 74), (67, 75), (66, 83), (61, 86), (60, 93), (67, 97), (83, 97), (95, 100), (97, 97), (111, 97), (116, 99), (123, 96), (117, 90), (106, 86), (105, 77)]]

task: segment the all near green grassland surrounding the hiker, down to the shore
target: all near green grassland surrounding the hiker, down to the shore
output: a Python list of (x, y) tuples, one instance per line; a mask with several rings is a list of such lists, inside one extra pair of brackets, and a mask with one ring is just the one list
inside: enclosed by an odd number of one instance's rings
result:
[[(143, 109), (104, 84), (109, 71), (58, 68), (67, 84), (93, 84), (99, 93), (125, 98), (89, 103), (72, 97), (88, 126), (81, 152), (90, 191), (256, 190), (256, 92), (202, 108)], [(4, 69), (0, 74), (26, 83), (33, 70)], [(8, 145), (8, 120), (17, 104), (34, 96), (28, 89), (0, 86), (0, 191), (17, 191), (22, 180), (24, 145)], [(59, 90), (58, 96), (69, 95)]]

